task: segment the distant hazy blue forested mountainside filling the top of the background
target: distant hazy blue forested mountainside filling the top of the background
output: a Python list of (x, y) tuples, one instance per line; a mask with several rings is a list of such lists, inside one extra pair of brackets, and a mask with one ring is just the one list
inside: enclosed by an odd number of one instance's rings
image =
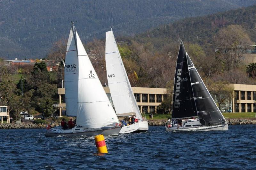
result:
[(109, 26), (116, 36), (134, 35), (182, 18), (255, 3), (255, 0), (1, 0), (0, 57), (44, 57), (53, 42), (68, 37), (70, 20), (77, 21), (82, 41), (88, 42), (104, 38)]

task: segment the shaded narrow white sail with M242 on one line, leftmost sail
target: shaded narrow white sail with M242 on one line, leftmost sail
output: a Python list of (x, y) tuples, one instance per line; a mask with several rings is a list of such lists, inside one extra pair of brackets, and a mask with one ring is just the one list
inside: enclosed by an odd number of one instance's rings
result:
[(68, 116), (77, 114), (78, 58), (76, 50), (76, 41), (71, 28), (64, 65), (66, 113)]

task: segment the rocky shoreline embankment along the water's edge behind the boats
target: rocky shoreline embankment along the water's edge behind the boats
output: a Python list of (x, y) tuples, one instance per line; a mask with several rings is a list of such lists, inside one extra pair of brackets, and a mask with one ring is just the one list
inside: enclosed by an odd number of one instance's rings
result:
[[(244, 124), (256, 124), (256, 119), (227, 119), (229, 125), (244, 125)], [(167, 125), (167, 120), (148, 120), (148, 126), (165, 126)], [(52, 123), (51, 127), (59, 126), (60, 123)], [(1, 123), (0, 129), (44, 129), (45, 124), (35, 124), (35, 123)]]

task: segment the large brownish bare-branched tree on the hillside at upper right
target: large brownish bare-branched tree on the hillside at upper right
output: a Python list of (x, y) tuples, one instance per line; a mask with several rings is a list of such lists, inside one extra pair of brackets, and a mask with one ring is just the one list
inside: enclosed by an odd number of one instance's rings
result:
[(246, 30), (238, 25), (220, 29), (214, 40), (218, 46), (216, 57), (223, 64), (223, 71), (238, 68), (246, 47), (252, 45)]

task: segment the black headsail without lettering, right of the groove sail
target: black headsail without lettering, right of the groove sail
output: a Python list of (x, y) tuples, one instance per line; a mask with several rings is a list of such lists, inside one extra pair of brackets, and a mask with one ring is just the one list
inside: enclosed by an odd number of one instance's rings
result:
[(226, 122), (225, 118), (212, 99), (211, 94), (204, 85), (203, 80), (199, 76), (194, 64), (189, 55), (186, 53), (188, 60), (188, 70), (191, 78), (191, 85), (193, 89), (194, 99), (196, 103), (196, 110), (202, 125), (217, 125)]

